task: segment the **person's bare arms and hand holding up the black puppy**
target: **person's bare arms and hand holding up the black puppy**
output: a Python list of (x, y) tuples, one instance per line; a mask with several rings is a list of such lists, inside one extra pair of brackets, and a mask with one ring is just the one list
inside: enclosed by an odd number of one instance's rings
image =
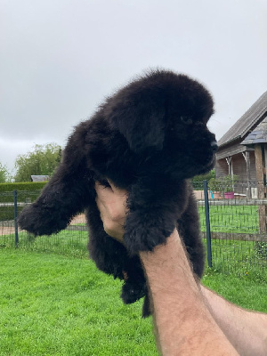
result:
[[(96, 184), (96, 202), (105, 231), (123, 242), (126, 191), (118, 190), (111, 182), (110, 186)], [(267, 354), (266, 315), (246, 311), (238, 314), (231, 310), (234, 305), (205, 287), (201, 287), (201, 293), (177, 231), (166, 245), (140, 255), (163, 355), (237, 355), (230, 341), (242, 356)]]

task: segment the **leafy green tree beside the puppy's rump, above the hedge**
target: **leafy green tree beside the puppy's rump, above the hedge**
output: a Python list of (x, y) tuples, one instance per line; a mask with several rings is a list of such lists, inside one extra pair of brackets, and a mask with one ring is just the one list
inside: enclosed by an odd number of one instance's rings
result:
[(52, 175), (61, 160), (61, 146), (36, 144), (34, 150), (16, 158), (15, 182), (30, 182), (31, 175)]

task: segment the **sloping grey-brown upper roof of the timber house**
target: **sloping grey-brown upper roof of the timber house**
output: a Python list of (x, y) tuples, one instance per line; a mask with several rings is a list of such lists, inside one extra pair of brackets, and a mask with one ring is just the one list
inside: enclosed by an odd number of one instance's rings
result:
[[(246, 137), (247, 134), (258, 125), (267, 112), (267, 92), (255, 101), (255, 103), (231, 126), (226, 134), (219, 140), (219, 148), (227, 143), (234, 142), (239, 138)], [(252, 133), (251, 133), (252, 134)]]

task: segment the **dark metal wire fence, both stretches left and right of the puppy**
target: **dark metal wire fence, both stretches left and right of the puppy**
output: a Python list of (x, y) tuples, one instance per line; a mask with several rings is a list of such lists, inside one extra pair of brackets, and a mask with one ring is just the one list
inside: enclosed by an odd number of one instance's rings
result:
[[(205, 190), (203, 182), (194, 183), (201, 234), (207, 246), (207, 265), (217, 271), (239, 275), (249, 275), (252, 271), (266, 273), (265, 187), (263, 182), (235, 184), (231, 198), (225, 198), (223, 189), (214, 198), (214, 191), (210, 187), (207, 186)], [(263, 193), (259, 194), (262, 190)], [(28, 251), (87, 258), (88, 231), (84, 214), (77, 215), (66, 230), (50, 237), (35, 238), (26, 231), (19, 230), (17, 216), (38, 194), (39, 191), (0, 193), (0, 250), (17, 247)]]

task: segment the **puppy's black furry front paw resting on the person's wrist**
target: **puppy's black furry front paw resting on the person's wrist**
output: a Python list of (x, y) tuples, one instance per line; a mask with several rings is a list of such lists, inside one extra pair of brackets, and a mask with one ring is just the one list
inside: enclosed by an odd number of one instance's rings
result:
[(125, 223), (125, 246), (130, 254), (139, 251), (152, 251), (154, 247), (166, 242), (174, 231), (172, 219), (152, 213), (134, 212), (127, 216)]

